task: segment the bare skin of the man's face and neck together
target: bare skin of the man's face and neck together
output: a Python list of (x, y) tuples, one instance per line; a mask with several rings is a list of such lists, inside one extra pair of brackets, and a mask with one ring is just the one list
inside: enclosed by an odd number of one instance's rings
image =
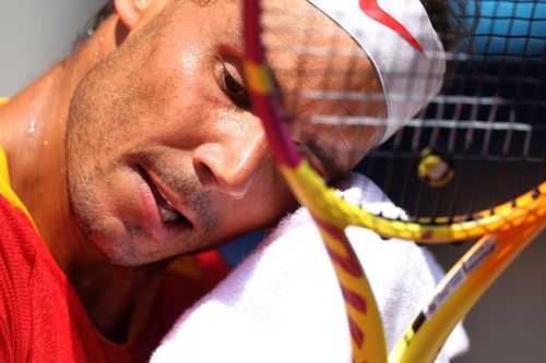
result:
[[(273, 226), (297, 206), (244, 90), (241, 2), (115, 3), (117, 13), (79, 50), (0, 110), (13, 189), (106, 336), (120, 330), (169, 258)], [(278, 22), (305, 15), (335, 26), (307, 1), (275, 4), (286, 10)], [(268, 41), (287, 43), (286, 36)], [(341, 41), (355, 47), (348, 37)], [(300, 64), (309, 74), (320, 66), (289, 52), (272, 61), (274, 69)], [(369, 77), (331, 86), (377, 87), (369, 62), (359, 66)], [(278, 83), (289, 88), (281, 73)], [(304, 85), (320, 86), (312, 76)], [(325, 160), (314, 146), (356, 140), (361, 156), (381, 132), (310, 125), (305, 120), (314, 107), (292, 110), (294, 138), (336, 178), (358, 157)], [(381, 106), (370, 110), (380, 113)]]

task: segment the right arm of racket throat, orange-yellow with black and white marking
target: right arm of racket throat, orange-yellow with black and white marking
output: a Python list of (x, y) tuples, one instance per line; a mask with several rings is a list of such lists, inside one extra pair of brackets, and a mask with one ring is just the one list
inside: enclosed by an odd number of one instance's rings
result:
[(546, 225), (546, 199), (506, 230), (483, 237), (450, 269), (432, 300), (389, 355), (390, 363), (432, 362), (452, 329)]

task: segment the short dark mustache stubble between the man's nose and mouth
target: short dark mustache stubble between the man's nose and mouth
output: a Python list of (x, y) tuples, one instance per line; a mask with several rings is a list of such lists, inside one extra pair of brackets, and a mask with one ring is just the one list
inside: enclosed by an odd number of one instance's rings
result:
[(141, 150), (136, 155), (145, 168), (175, 194), (182, 197), (183, 204), (197, 215), (198, 222), (210, 234), (218, 226), (218, 215), (214, 204), (214, 192), (203, 190), (203, 185), (191, 167), (178, 160), (166, 160), (153, 150)]

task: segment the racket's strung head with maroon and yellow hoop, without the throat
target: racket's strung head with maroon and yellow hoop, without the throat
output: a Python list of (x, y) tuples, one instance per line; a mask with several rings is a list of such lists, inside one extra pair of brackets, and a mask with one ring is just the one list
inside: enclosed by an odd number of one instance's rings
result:
[[(526, 213), (519, 206), (529, 197), (544, 195), (546, 40), (536, 31), (544, 21), (532, 17), (543, 1), (523, 10), (512, 7), (501, 35), (484, 25), (489, 19), (484, 11), (496, 8), (494, 1), (476, 2), (478, 11), (453, 8), (436, 14), (426, 9), (446, 49), (427, 57), (444, 60), (446, 73), (416, 65), (382, 78), (375, 74), (376, 61), (321, 10), (301, 1), (287, 14), (275, 9), (280, 2), (261, 3), (261, 16), (249, 31), (254, 38), (246, 33), (247, 82), (278, 162), (295, 170), (297, 152), (304, 150), (317, 169), (305, 166), (287, 177), (299, 201), (316, 215), (389, 238), (451, 242), (500, 228)], [(275, 22), (281, 13), (284, 22)], [(521, 35), (510, 32), (522, 13), (532, 34), (513, 46)], [(458, 24), (465, 25), (462, 38)], [(503, 46), (496, 45), (499, 37)], [(397, 57), (395, 49), (390, 51), (391, 58)], [(384, 78), (396, 76), (410, 85), (440, 75), (447, 80), (443, 92), (428, 95), (429, 106), (377, 148), (391, 122)], [(417, 96), (397, 92), (390, 97)], [(327, 187), (357, 164), (405, 213), (371, 213), (344, 203)]]

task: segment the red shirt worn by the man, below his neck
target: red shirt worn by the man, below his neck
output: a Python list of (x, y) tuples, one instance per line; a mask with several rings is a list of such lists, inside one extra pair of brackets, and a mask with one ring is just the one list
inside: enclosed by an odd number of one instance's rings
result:
[(0, 362), (147, 362), (179, 314), (227, 270), (216, 253), (186, 258), (135, 307), (129, 341), (112, 343), (96, 331), (28, 217), (0, 191)]

